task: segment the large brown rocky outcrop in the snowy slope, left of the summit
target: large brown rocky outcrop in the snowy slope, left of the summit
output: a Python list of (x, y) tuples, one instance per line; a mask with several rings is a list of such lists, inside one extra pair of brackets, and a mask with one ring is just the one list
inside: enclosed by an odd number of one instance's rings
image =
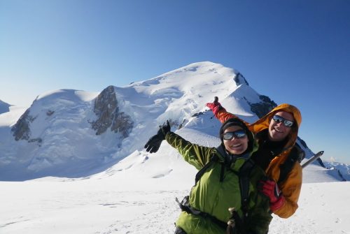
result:
[(123, 138), (129, 136), (134, 122), (130, 115), (120, 112), (116, 91), (113, 86), (106, 87), (94, 101), (94, 113), (97, 120), (92, 122), (92, 129), (96, 131), (96, 135), (101, 135), (107, 129), (120, 133)]

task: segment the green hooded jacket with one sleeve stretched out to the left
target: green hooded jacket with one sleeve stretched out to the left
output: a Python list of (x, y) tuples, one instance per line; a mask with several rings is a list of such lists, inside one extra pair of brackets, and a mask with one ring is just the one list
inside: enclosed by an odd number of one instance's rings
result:
[[(183, 159), (195, 166), (197, 170), (208, 163), (211, 156), (214, 154), (218, 156), (218, 161), (209, 166), (197, 184), (191, 189), (190, 206), (225, 223), (231, 217), (228, 208), (235, 207), (239, 217), (243, 218), (237, 173), (247, 159), (239, 157), (231, 163), (230, 167), (225, 166), (223, 181), (220, 182), (222, 163), (225, 159), (216, 148), (195, 145), (173, 132), (167, 133), (165, 139), (169, 145), (179, 151)], [(253, 166), (249, 176), (248, 216), (245, 219), (248, 233), (267, 233), (269, 223), (272, 220), (272, 216), (269, 214), (269, 200), (260, 195), (256, 187), (258, 181), (264, 176), (265, 172), (262, 169)], [(176, 221), (176, 226), (183, 228), (188, 234), (224, 234), (226, 232), (224, 228), (218, 226), (209, 218), (184, 211), (181, 212), (179, 219)]]

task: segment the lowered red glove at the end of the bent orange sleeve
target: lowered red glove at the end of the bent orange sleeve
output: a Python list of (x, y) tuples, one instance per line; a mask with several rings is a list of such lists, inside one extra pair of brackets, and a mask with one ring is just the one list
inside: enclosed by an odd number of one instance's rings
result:
[(269, 208), (272, 211), (279, 210), (286, 202), (279, 186), (274, 180), (261, 180), (259, 190), (269, 198)]

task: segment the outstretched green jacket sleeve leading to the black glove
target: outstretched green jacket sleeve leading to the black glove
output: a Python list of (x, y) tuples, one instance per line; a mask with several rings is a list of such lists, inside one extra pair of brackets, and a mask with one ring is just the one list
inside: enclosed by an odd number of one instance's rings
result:
[(168, 132), (165, 140), (183, 156), (183, 159), (200, 170), (210, 159), (214, 148), (193, 144), (173, 132)]

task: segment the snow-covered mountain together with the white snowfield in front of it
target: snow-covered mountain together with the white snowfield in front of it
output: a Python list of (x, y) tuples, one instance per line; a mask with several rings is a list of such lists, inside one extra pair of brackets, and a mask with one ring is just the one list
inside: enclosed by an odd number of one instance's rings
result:
[[(155, 154), (143, 147), (166, 119), (183, 138), (218, 145), (221, 124), (205, 107), (214, 96), (248, 122), (276, 105), (237, 71), (202, 62), (101, 93), (47, 92), (27, 110), (10, 106), (0, 114), (0, 233), (174, 233), (175, 198), (188, 195), (197, 171), (167, 142)], [(350, 182), (339, 182), (349, 166), (323, 163), (304, 168), (297, 212), (274, 216), (269, 233), (350, 233)]]

